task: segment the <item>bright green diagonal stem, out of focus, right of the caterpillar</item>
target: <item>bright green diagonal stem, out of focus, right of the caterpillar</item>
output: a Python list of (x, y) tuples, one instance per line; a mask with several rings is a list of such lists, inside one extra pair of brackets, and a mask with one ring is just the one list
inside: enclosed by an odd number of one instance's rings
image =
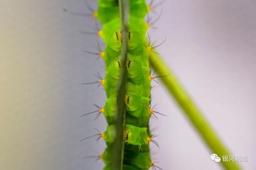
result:
[[(196, 107), (194, 102), (188, 96), (187, 92), (180, 85), (177, 78), (174, 76), (174, 74), (168, 68), (162, 58), (159, 55), (152, 53), (152, 55), (150, 55), (150, 64), (156, 70), (156, 73), (159, 76), (170, 74), (169, 76), (162, 78), (162, 82), (164, 83), (170, 94), (172, 94), (176, 102), (180, 105), (185, 115), (189, 118), (192, 125), (194, 125), (194, 127), (204, 139), (206, 145), (208, 145), (208, 147), (212, 150), (212, 152), (217, 154), (221, 159), (223, 155), (230, 155), (228, 150), (224, 147), (223, 143), (220, 141), (220, 139), (212, 129), (212, 127), (210, 127), (209, 123), (206, 121), (206, 118)], [(209, 161), (211, 161), (210, 155)], [(226, 170), (241, 170), (241, 168), (235, 162), (221, 161), (221, 163)]]

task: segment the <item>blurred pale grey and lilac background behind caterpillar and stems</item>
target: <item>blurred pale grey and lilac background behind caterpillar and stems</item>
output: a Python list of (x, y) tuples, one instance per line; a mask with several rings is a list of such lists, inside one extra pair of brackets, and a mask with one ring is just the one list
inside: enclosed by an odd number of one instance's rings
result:
[[(88, 0), (97, 8), (96, 0)], [(157, 3), (158, 0), (154, 0)], [(100, 170), (84, 159), (104, 150), (104, 141), (80, 139), (104, 131), (106, 121), (92, 104), (105, 94), (92, 82), (104, 63), (94, 51), (92, 18), (63, 12), (88, 12), (84, 0), (1, 0), (0, 11), (0, 169)], [(168, 0), (150, 37), (231, 155), (256, 169), (256, 1)], [(161, 8), (155, 9), (159, 14)], [(157, 18), (157, 14), (150, 14)], [(100, 42), (104, 48), (104, 43)], [(164, 86), (154, 84), (152, 104), (168, 114), (150, 119), (160, 150), (152, 157), (164, 170), (221, 170)]]

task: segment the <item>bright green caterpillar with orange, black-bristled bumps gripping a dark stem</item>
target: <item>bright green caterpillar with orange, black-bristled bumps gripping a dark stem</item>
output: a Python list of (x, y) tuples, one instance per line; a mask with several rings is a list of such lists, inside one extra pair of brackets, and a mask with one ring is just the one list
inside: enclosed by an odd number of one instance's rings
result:
[(126, 63), (122, 63), (120, 55), (123, 36), (120, 31), (118, 0), (98, 0), (98, 4), (98, 10), (93, 12), (92, 16), (103, 25), (97, 34), (106, 43), (106, 49), (100, 51), (98, 55), (104, 60), (106, 73), (105, 78), (101, 78), (99, 83), (104, 86), (107, 99), (103, 108), (97, 106), (99, 108), (97, 116), (103, 114), (108, 123), (106, 131), (97, 134), (99, 135), (98, 139), (103, 138), (107, 145), (106, 150), (99, 158), (106, 164), (104, 170), (111, 170), (110, 148), (115, 139), (117, 84), (121, 65), (125, 64), (128, 72), (125, 96), (126, 129), (123, 170), (159, 168), (150, 158), (149, 144), (154, 143), (157, 146), (158, 144), (152, 139), (154, 136), (150, 133), (148, 126), (150, 116), (158, 113), (153, 111), (154, 107), (151, 108), (150, 99), (150, 84), (155, 77), (151, 75), (148, 58), (150, 53), (154, 52), (154, 47), (150, 42), (147, 43), (146, 33), (151, 24), (144, 21), (146, 14), (152, 10), (152, 6), (147, 5), (146, 0), (130, 0), (128, 56)]

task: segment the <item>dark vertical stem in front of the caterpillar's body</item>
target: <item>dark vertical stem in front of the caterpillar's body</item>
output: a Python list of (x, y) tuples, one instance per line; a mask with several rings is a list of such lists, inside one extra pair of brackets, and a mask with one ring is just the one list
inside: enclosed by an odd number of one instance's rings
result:
[(112, 170), (122, 170), (124, 158), (124, 130), (126, 126), (126, 106), (124, 98), (127, 88), (127, 32), (129, 17), (129, 0), (119, 0), (120, 18), (122, 24), (122, 54), (121, 75), (117, 93), (116, 139), (112, 145)]

